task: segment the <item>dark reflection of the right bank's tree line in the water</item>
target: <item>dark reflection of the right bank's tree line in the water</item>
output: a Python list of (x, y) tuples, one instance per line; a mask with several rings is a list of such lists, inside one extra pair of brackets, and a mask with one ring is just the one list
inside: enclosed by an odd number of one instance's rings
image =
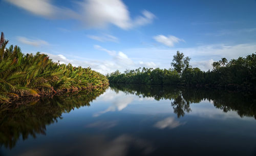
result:
[(178, 117), (191, 111), (191, 103), (199, 103), (202, 100), (212, 101), (214, 106), (223, 112), (236, 111), (240, 117), (254, 117), (256, 119), (255, 93), (234, 93), (225, 90), (200, 90), (191, 88), (174, 88), (171, 86), (147, 86), (147, 85), (113, 85), (112, 89), (118, 89), (125, 93), (143, 97), (154, 97), (156, 100), (170, 99), (174, 113)]

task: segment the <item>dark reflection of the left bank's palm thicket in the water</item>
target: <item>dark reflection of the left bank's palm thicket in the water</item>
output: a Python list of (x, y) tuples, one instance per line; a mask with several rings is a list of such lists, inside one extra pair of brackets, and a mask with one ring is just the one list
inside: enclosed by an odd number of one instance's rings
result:
[(52, 99), (19, 102), (13, 106), (0, 106), (0, 146), (13, 148), (20, 137), (25, 140), (29, 136), (36, 138), (38, 134), (46, 135), (46, 126), (61, 119), (62, 113), (90, 106), (90, 102), (103, 92), (104, 89), (95, 89)]

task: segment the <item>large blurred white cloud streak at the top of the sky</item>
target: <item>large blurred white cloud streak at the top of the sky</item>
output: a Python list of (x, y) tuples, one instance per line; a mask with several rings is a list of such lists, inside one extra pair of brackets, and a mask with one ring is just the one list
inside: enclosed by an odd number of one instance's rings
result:
[(105, 28), (113, 24), (121, 29), (131, 29), (151, 23), (155, 18), (153, 13), (144, 10), (141, 16), (132, 19), (129, 10), (121, 0), (83, 0), (76, 2), (77, 7), (73, 10), (57, 7), (52, 4), (51, 0), (6, 1), (42, 17), (78, 20), (86, 28)]

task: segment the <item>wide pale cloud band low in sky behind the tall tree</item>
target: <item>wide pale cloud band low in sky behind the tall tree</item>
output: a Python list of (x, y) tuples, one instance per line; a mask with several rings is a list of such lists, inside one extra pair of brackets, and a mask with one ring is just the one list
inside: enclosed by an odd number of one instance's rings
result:
[(191, 58), (190, 64), (193, 67), (199, 67), (201, 70), (207, 71), (212, 69), (211, 63), (213, 61), (219, 61), (223, 57), (229, 61), (251, 55), (256, 51), (256, 44), (210, 44), (187, 48), (130, 48), (123, 49), (123, 53), (129, 53), (131, 56), (136, 56), (136, 58), (143, 58), (147, 62), (153, 61), (158, 63), (157, 67), (168, 69), (177, 50)]

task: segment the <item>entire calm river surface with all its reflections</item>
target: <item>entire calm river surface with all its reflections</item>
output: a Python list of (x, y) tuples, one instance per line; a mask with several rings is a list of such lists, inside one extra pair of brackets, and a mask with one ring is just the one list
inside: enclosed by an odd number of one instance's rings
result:
[(253, 94), (112, 86), (0, 110), (0, 155), (256, 155)]

